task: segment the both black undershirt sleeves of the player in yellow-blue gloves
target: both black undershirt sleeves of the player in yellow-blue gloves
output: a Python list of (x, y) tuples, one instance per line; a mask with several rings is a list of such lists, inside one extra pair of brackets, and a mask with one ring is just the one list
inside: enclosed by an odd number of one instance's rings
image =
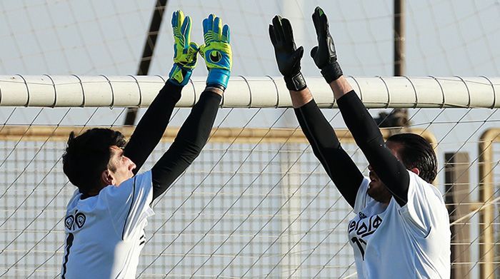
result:
[[(181, 98), (181, 90), (181, 86), (167, 81), (137, 124), (124, 149), (124, 155), (136, 164), (134, 174), (139, 172), (165, 133), (175, 104)], [(174, 143), (151, 169), (153, 199), (164, 193), (199, 155), (214, 125), (220, 101), (221, 96), (216, 93), (201, 93)]]

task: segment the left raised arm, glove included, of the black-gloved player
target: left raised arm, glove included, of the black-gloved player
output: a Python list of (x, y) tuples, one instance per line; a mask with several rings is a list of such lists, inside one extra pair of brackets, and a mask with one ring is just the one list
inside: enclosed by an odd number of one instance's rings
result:
[(354, 207), (363, 176), (349, 154), (341, 148), (334, 129), (319, 110), (306, 86), (300, 71), (304, 49), (302, 46), (296, 49), (289, 20), (275, 16), (273, 24), (269, 26), (269, 36), (302, 131), (328, 176), (346, 201)]

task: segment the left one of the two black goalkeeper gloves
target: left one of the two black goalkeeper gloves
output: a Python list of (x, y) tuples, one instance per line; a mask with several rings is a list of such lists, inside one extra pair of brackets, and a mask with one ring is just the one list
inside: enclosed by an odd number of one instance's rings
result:
[(281, 16), (274, 16), (273, 24), (269, 25), (269, 37), (274, 46), (279, 72), (285, 78), (286, 88), (292, 91), (306, 88), (306, 80), (300, 72), (300, 59), (304, 55), (304, 48), (300, 46), (296, 49), (290, 21), (282, 19)]

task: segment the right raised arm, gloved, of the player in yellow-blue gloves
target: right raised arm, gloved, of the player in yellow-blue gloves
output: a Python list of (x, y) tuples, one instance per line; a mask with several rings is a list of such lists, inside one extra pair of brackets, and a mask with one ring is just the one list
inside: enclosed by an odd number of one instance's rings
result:
[(203, 21), (203, 29), (205, 44), (200, 51), (209, 69), (206, 88), (174, 143), (151, 169), (153, 199), (164, 193), (199, 156), (214, 126), (221, 96), (229, 81), (232, 66), (229, 26), (222, 27), (221, 19), (211, 14)]

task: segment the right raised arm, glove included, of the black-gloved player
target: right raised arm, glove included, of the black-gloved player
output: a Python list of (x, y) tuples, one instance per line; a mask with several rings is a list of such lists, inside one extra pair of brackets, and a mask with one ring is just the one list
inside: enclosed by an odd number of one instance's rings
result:
[(334, 92), (342, 117), (356, 144), (391, 195), (400, 206), (404, 206), (408, 200), (409, 173), (386, 148), (379, 127), (344, 78), (337, 62), (334, 41), (329, 34), (328, 19), (321, 8), (316, 7), (313, 21), (318, 36), (318, 46), (311, 51), (314, 63), (321, 69), (321, 74)]

